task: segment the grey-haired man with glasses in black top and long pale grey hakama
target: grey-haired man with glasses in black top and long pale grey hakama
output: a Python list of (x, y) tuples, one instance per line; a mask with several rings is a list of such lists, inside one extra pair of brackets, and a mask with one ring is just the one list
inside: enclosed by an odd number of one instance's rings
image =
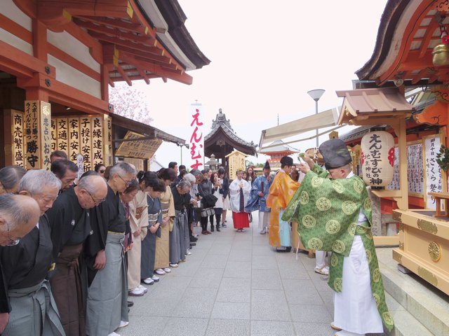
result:
[(116, 335), (116, 328), (128, 325), (128, 282), (122, 246), (126, 211), (119, 194), (135, 175), (135, 169), (126, 162), (111, 167), (106, 200), (92, 211), (93, 234), (85, 245), (88, 335)]

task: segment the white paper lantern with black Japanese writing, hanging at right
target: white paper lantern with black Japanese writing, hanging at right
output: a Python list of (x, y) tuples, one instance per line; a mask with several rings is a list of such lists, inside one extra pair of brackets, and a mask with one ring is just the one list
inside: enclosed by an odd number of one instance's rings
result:
[(362, 176), (368, 186), (385, 187), (393, 180), (394, 138), (389, 132), (365, 134), (361, 143)]

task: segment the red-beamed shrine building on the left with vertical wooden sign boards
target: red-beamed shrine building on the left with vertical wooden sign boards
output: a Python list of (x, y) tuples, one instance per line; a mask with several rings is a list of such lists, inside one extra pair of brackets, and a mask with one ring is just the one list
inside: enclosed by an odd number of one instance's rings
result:
[[(1, 1), (0, 167), (46, 169), (56, 149), (72, 160), (81, 153), (84, 169), (113, 164), (129, 139), (108, 85), (156, 78), (189, 85), (187, 71), (210, 62), (185, 20), (177, 0)], [(185, 143), (139, 124), (126, 121), (141, 140), (155, 141), (148, 148)]]

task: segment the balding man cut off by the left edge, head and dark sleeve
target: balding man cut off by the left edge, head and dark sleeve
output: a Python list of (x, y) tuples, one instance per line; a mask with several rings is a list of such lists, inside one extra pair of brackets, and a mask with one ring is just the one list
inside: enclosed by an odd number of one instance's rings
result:
[[(24, 195), (0, 195), (0, 246), (11, 247), (34, 228), (39, 220), (39, 205)], [(0, 261), (0, 332), (6, 328), (11, 306)]]

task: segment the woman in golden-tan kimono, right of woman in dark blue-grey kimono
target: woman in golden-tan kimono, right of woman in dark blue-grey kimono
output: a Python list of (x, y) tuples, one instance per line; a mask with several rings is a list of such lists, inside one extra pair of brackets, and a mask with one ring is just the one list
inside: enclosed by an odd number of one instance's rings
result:
[(173, 230), (173, 219), (175, 218), (175, 204), (173, 203), (173, 195), (171, 194), (170, 185), (176, 179), (176, 172), (172, 168), (161, 169), (159, 178), (166, 183), (166, 191), (161, 193), (161, 209), (162, 209), (162, 226), (161, 237), (156, 237), (156, 257), (154, 260), (154, 268), (156, 274), (165, 275), (170, 273), (168, 268), (170, 263), (170, 232)]

